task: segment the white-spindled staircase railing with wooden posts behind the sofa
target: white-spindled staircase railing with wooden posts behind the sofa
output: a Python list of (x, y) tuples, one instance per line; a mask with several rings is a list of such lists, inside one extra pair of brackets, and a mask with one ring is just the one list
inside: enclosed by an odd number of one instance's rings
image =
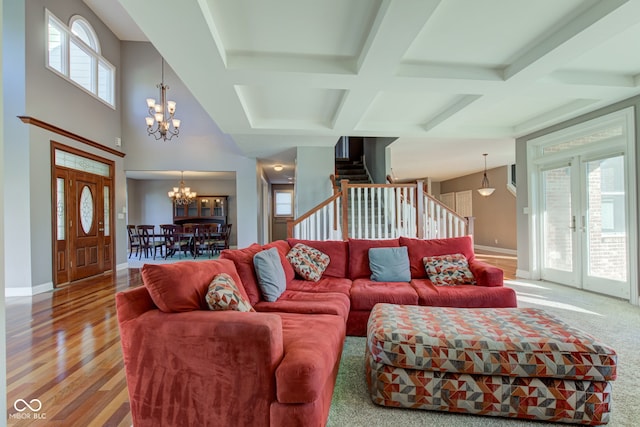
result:
[[(333, 181), (333, 179), (332, 179)], [(335, 185), (335, 194), (289, 221), (289, 237), (308, 240), (435, 239), (473, 232), (473, 219), (457, 215), (424, 192), (424, 183)]]

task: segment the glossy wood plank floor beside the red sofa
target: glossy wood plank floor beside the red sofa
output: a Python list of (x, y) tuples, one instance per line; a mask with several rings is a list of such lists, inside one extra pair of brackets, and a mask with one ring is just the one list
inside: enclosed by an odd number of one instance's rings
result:
[[(478, 256), (515, 277), (515, 257)], [(141, 283), (128, 269), (7, 298), (8, 425), (131, 426), (114, 295)], [(24, 410), (19, 399), (42, 407)]]

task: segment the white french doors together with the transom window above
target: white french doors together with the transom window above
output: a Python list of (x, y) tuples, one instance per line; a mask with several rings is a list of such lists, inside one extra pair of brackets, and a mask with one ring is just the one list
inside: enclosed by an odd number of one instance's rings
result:
[(628, 114), (617, 114), (534, 145), (541, 279), (632, 298), (636, 210), (629, 123)]

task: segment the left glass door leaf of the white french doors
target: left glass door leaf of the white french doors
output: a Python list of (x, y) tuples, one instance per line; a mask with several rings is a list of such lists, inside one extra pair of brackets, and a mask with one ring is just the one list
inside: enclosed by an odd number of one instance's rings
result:
[(540, 173), (541, 276), (544, 280), (578, 286), (572, 175), (571, 165)]

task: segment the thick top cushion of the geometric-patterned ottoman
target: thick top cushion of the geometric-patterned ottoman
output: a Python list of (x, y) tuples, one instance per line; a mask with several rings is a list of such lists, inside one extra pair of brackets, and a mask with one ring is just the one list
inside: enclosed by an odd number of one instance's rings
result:
[(535, 308), (456, 309), (380, 304), (371, 312), (373, 360), (470, 375), (610, 381), (616, 352)]

